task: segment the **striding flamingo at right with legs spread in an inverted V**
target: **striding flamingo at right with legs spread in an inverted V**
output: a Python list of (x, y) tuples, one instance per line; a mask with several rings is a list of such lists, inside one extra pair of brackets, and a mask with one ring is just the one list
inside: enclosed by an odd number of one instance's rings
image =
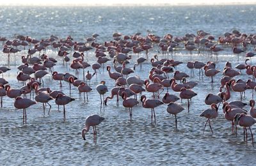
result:
[[(216, 105), (216, 103), (212, 103), (211, 104), (211, 109), (207, 109), (207, 110), (204, 110), (200, 116), (202, 117), (206, 117), (207, 118), (207, 121), (204, 125), (204, 130), (205, 130), (205, 127), (206, 127), (206, 124), (209, 122), (209, 126), (211, 128), (211, 132), (212, 132), (212, 126), (211, 126), (211, 121), (210, 119), (214, 119), (218, 116), (218, 107)], [(213, 132), (212, 132), (213, 134)], [(204, 131), (203, 131), (203, 135), (204, 135)]]

